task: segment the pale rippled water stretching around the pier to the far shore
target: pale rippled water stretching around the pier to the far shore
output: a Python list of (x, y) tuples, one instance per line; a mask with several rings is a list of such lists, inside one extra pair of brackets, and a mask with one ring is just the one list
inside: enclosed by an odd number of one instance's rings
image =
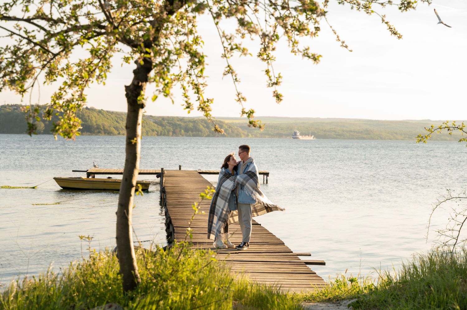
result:
[[(287, 208), (255, 219), (293, 251), (325, 260), (326, 266), (311, 266), (325, 279), (346, 269), (368, 275), (373, 268), (398, 268), (431, 248), (436, 234), (428, 243), (425, 234), (432, 203), (446, 188), (467, 183), (467, 148), (455, 142), (144, 137), (140, 167), (219, 169), (241, 144), (249, 144), (258, 168), (270, 172), (264, 193)], [(73, 142), (0, 135), (0, 185), (83, 175), (71, 170), (89, 169), (93, 161), (122, 168), (124, 137)], [(158, 191), (152, 186), (136, 197), (133, 223), (140, 240), (164, 245)], [(93, 236), (96, 249), (113, 247), (117, 199), (113, 192), (61, 190), (53, 180), (35, 190), (0, 189), (0, 285), (80, 259), (78, 235)], [(437, 217), (434, 227), (446, 219)]]

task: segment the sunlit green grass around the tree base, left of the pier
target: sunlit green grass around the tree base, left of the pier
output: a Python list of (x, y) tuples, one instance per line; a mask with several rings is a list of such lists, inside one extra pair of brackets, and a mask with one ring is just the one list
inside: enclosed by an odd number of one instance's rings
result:
[[(148, 252), (149, 253), (149, 252)], [(91, 309), (118, 303), (124, 309), (301, 309), (294, 297), (248, 279), (236, 281), (209, 251), (178, 245), (154, 254), (137, 251), (139, 287), (123, 294), (118, 260), (109, 252), (12, 282), (0, 309)]]

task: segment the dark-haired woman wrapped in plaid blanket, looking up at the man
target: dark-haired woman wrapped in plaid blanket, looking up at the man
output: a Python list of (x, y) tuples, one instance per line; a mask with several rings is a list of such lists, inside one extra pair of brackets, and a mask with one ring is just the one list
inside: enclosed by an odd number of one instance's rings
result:
[[(237, 161), (233, 153), (224, 158), (220, 167), (219, 179), (217, 181), (216, 193), (211, 200), (208, 217), (208, 238), (214, 239), (216, 248), (235, 248), (229, 240), (229, 217), (230, 213), (237, 210), (237, 198), (235, 177), (237, 176)], [(221, 234), (225, 233), (225, 243), (222, 242)]]

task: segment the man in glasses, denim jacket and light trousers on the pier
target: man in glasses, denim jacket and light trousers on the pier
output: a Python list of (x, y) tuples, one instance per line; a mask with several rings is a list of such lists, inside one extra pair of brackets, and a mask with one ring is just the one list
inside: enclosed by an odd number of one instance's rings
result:
[[(255, 164), (255, 159), (250, 157), (250, 146), (240, 145), (238, 147), (238, 156), (241, 159), (238, 165), (239, 176), (245, 174), (247, 171), (256, 173), (259, 179), (258, 168)], [(238, 221), (240, 223), (242, 242), (236, 248), (237, 250), (245, 250), (249, 247), (251, 238), (251, 214), (252, 208), (256, 200), (253, 198), (251, 192), (245, 188), (245, 186), (239, 184), (237, 187), (237, 210), (238, 210)]]

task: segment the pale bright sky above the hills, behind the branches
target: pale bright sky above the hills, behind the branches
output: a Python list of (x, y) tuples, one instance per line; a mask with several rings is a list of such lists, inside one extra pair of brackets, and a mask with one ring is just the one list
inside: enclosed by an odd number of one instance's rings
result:
[[(274, 69), (281, 72), (279, 88), (284, 98), (275, 103), (272, 90), (266, 87), (264, 63), (255, 56), (234, 58), (241, 83), (239, 90), (247, 97), (246, 108), (255, 115), (279, 117), (340, 117), (366, 119), (466, 120), (467, 1), (435, 0), (431, 6), (418, 4), (417, 10), (400, 13), (396, 8), (376, 7), (403, 34), (402, 40), (391, 36), (377, 15), (368, 16), (337, 5), (332, 0), (327, 18), (353, 52), (340, 47), (324, 20), (318, 38), (302, 42), (323, 57), (318, 65), (292, 55), (285, 40), (277, 47)], [(436, 8), (441, 19), (452, 26), (437, 24)], [(205, 42), (208, 66), (206, 96), (214, 98), (214, 117), (239, 117), (241, 107), (235, 102), (232, 79), (222, 77), (226, 66), (221, 59), (219, 36), (207, 16), (199, 19), (198, 30)], [(250, 52), (258, 51), (257, 42), (247, 42)], [(126, 111), (124, 85), (132, 79), (134, 64), (121, 66), (114, 57), (106, 85), (93, 84), (86, 91), (88, 106), (97, 109)], [(41, 86), (40, 103), (47, 103), (58, 84)], [(153, 86), (146, 95), (152, 96)], [(32, 102), (37, 102), (37, 88)], [(146, 105), (146, 114), (157, 116), (189, 115), (181, 107), (180, 93), (174, 91), (175, 103), (157, 99)], [(28, 103), (25, 96), (23, 103)], [(13, 92), (0, 93), (0, 104), (21, 103)]]

